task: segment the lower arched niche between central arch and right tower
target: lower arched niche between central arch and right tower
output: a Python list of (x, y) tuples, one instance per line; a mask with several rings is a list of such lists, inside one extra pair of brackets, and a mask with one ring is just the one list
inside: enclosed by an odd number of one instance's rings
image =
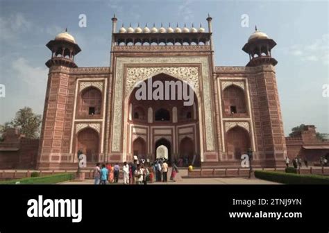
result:
[(241, 160), (251, 146), (249, 133), (242, 127), (235, 126), (226, 133), (226, 150), (228, 159)]

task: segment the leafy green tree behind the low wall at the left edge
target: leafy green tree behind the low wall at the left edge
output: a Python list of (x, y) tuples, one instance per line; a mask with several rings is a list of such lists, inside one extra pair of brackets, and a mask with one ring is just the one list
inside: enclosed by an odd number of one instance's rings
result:
[(35, 114), (31, 107), (21, 108), (16, 112), (15, 118), (12, 121), (0, 126), (1, 138), (6, 129), (17, 128), (26, 138), (35, 139), (39, 137), (41, 122), (41, 115)]

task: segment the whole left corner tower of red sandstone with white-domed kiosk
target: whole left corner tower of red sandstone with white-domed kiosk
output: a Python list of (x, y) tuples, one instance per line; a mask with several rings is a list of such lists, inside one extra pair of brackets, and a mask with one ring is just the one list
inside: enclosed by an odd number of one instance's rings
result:
[(70, 72), (77, 68), (74, 56), (81, 49), (67, 30), (46, 46), (51, 50), (51, 58), (46, 62), (49, 74), (37, 169), (58, 169), (74, 162), (73, 154), (69, 153), (75, 87)]

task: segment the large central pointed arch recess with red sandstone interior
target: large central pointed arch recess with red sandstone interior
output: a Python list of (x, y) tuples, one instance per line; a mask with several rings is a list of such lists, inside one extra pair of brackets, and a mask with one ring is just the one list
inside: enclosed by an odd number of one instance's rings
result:
[[(127, 135), (126, 148), (128, 148), (126, 160), (133, 159), (135, 151), (132, 148), (135, 147), (134, 139), (137, 137), (145, 139), (146, 159), (149, 159), (150, 162), (157, 159), (159, 146), (167, 148), (166, 159), (170, 164), (183, 158), (180, 139), (185, 137), (194, 139), (192, 153), (200, 155), (202, 146), (199, 119), (201, 113), (194, 89), (188, 83), (183, 83), (183, 81), (163, 73), (143, 82), (146, 87), (146, 95), (152, 92), (151, 98), (142, 96), (140, 91), (142, 85), (139, 85), (132, 90), (126, 103), (128, 111), (125, 134)], [(151, 91), (148, 89), (150, 82)], [(163, 89), (159, 83), (162, 83)], [(171, 85), (166, 86), (167, 84)], [(199, 159), (196, 164), (201, 164), (201, 157), (196, 159)]]

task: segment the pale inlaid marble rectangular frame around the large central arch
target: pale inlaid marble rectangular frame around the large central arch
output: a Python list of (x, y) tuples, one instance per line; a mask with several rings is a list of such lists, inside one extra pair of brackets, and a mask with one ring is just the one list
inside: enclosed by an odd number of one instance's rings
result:
[[(198, 77), (198, 82), (201, 80), (202, 83), (202, 92), (203, 92), (203, 102), (211, 103), (210, 98), (210, 71), (209, 71), (209, 63), (208, 58), (206, 57), (167, 57), (167, 58), (117, 58), (116, 65), (116, 77), (115, 77), (115, 103), (113, 110), (113, 124), (112, 124), (112, 151), (119, 152), (121, 150), (121, 135), (122, 135), (122, 114), (126, 114), (126, 111), (123, 111), (123, 101), (125, 100), (126, 92), (124, 92), (124, 65), (125, 64), (201, 64), (201, 77)], [(185, 65), (186, 67), (187, 65)], [(166, 67), (169, 67), (168, 65)], [(152, 67), (144, 67), (144, 68), (152, 68)], [(154, 67), (153, 67), (154, 68)], [(165, 73), (164, 71), (157, 71), (158, 74)], [(199, 71), (198, 71), (199, 73)], [(156, 74), (151, 74), (151, 76)], [(170, 74), (173, 76), (172, 74)], [(129, 78), (129, 77), (127, 77)], [(149, 78), (148, 76), (142, 77), (142, 79), (146, 80)], [(180, 77), (174, 76), (174, 78), (178, 78), (182, 80)], [(128, 81), (126, 80), (128, 83)], [(199, 89), (201, 88), (199, 83)], [(133, 85), (132, 85), (133, 87)], [(195, 88), (195, 86), (194, 86)], [(129, 88), (128, 88), (129, 89)], [(197, 95), (198, 92), (196, 92)], [(126, 98), (127, 99), (127, 98)], [(200, 101), (200, 100), (198, 100)], [(212, 128), (212, 106), (211, 104), (204, 105), (204, 122), (205, 122), (205, 145), (206, 150), (214, 150), (214, 138), (213, 138), (213, 128)], [(201, 111), (199, 111), (200, 119), (203, 119)], [(126, 121), (126, 116), (124, 116), (124, 121)], [(201, 132), (203, 132), (203, 128), (200, 124)], [(203, 141), (203, 137), (201, 134), (201, 142)], [(124, 141), (124, 145), (126, 145), (126, 141)], [(203, 144), (201, 143), (201, 155), (203, 154)], [(125, 155), (124, 158), (126, 159)], [(203, 157), (201, 157), (201, 162), (203, 161)]]

